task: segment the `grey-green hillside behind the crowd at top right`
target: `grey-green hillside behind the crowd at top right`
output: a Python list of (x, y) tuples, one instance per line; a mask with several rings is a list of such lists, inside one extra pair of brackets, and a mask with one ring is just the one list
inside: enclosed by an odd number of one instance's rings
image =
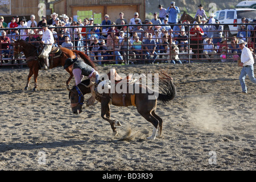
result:
[[(204, 6), (204, 10), (207, 11), (207, 14), (212, 11), (212, 7), (209, 7), (210, 3), (216, 3), (217, 10), (221, 9), (230, 9), (236, 7), (236, 5), (241, 2), (241, 0), (212, 0), (212, 1), (205, 1), (205, 0), (176, 0), (175, 4), (179, 7), (180, 11), (183, 12), (187, 10), (189, 14), (196, 14), (198, 9), (198, 5), (202, 4)], [(170, 0), (159, 0), (159, 1), (152, 1), (146, 0), (146, 14), (153, 14), (154, 12), (159, 12), (158, 5), (163, 5), (164, 8), (168, 8), (170, 6)]]

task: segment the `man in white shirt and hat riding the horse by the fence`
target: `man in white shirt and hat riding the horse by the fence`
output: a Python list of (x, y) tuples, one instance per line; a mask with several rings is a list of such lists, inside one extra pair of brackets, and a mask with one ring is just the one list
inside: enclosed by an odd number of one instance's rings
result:
[(48, 69), (49, 68), (49, 53), (52, 50), (52, 45), (54, 44), (54, 38), (52, 32), (48, 29), (48, 26), (46, 23), (42, 24), (43, 28), (43, 37), (41, 43), (44, 44), (44, 49), (42, 53), (38, 56), (39, 58), (44, 59), (44, 67), (42, 69)]

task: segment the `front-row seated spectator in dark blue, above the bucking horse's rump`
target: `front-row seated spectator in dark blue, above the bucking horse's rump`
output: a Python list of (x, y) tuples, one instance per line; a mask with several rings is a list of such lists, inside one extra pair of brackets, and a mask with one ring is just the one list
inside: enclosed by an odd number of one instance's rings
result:
[[(145, 41), (144, 48), (146, 49), (144, 53), (146, 54), (149, 63), (155, 63), (158, 54), (156, 53), (156, 42), (152, 39), (151, 33), (148, 34), (148, 39)], [(150, 61), (151, 55), (153, 55), (152, 61)]]

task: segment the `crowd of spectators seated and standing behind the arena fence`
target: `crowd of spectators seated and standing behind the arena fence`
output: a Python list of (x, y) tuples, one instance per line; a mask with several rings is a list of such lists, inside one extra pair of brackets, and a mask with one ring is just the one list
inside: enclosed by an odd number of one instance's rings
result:
[[(106, 14), (101, 24), (94, 23), (93, 18), (85, 18), (83, 21), (79, 19), (76, 22), (72, 17), (57, 13), (51, 14), (51, 19), (48, 20), (46, 16), (42, 16), (39, 22), (35, 21), (35, 15), (31, 15), (28, 21), (24, 17), (19, 19), (14, 16), (8, 24), (4, 22), (3, 16), (0, 16), (0, 28), (6, 28), (1, 32), (1, 55), (6, 53), (11, 56), (11, 42), (17, 39), (38, 46), (43, 34), (42, 23), (48, 23), (56, 46), (79, 51), (88, 50), (91, 59), (96, 60), (98, 64), (106, 60), (115, 60), (116, 64), (123, 63), (129, 56), (137, 64), (143, 64), (145, 61), (155, 63), (156, 57), (159, 55), (159, 58), (163, 59), (164, 54), (170, 56), (168, 59), (171, 59), (171, 63), (180, 64), (180, 52), (192, 52), (193, 58), (197, 59), (200, 58), (199, 55), (204, 55), (209, 61), (218, 53), (220, 59), (226, 61), (228, 56), (234, 59), (240, 56), (238, 39), (247, 41), (247, 45), (254, 49), (254, 24), (248, 24), (250, 22), (242, 18), (244, 24), (238, 26), (237, 36), (230, 38), (228, 43), (227, 39), (224, 39), (224, 27), (212, 16), (208, 19), (203, 6), (198, 7), (196, 16), (201, 17), (201, 22), (193, 22), (194, 26), (178, 20), (180, 10), (175, 6), (175, 2), (171, 2), (170, 7), (166, 9), (159, 5), (159, 12), (154, 13), (154, 18), (144, 21), (139, 18), (137, 12), (133, 17), (129, 17), (129, 22), (122, 12), (117, 20)], [(127, 24), (129, 26), (126, 26)], [(98, 27), (101, 25), (104, 27)], [(15, 29), (9, 31), (8, 28)]]

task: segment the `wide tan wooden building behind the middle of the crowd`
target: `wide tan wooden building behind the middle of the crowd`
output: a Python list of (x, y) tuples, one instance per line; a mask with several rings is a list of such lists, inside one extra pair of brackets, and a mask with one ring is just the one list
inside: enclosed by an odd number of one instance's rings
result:
[(104, 20), (105, 14), (109, 20), (115, 22), (119, 13), (125, 14), (129, 22), (134, 18), (134, 13), (139, 13), (139, 18), (145, 20), (145, 0), (60, 0), (54, 3), (53, 11), (59, 15), (66, 14), (74, 19), (94, 18), (94, 23)]

